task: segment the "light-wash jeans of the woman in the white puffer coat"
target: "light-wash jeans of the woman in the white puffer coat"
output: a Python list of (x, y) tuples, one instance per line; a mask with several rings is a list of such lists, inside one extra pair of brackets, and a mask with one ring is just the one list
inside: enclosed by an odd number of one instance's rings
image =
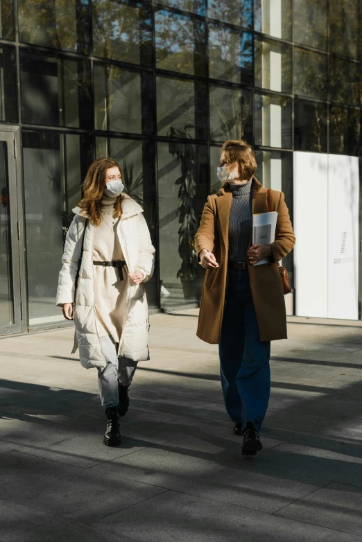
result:
[(137, 361), (128, 358), (117, 358), (118, 344), (111, 336), (101, 337), (101, 350), (106, 367), (98, 368), (98, 386), (102, 405), (107, 407), (119, 405), (118, 383), (128, 387), (137, 368)]

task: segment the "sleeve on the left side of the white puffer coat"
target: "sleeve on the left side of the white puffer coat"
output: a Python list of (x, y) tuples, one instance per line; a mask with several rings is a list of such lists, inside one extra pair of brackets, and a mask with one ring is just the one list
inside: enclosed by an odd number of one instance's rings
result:
[[(74, 303), (74, 290), (76, 283), (76, 274), (78, 270), (78, 260), (80, 258), (80, 243), (78, 235), (78, 226), (80, 226), (78, 216), (75, 216), (65, 238), (64, 252), (62, 256), (62, 269), (59, 273), (58, 290), (56, 304), (59, 306), (64, 303)], [(81, 231), (83, 232), (84, 224)]]

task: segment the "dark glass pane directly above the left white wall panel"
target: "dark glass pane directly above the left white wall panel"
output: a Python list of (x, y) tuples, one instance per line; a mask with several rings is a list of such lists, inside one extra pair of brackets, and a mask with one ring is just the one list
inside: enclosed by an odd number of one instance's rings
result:
[(327, 104), (295, 100), (294, 148), (327, 152)]

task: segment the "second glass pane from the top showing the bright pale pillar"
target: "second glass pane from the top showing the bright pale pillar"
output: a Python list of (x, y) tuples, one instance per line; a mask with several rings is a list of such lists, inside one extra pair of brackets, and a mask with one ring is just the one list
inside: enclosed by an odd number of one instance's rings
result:
[(255, 38), (255, 86), (277, 92), (292, 91), (290, 45)]

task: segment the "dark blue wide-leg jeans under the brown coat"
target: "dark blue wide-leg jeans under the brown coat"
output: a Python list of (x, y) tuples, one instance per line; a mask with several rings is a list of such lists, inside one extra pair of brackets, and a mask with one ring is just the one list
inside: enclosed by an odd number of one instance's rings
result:
[(270, 341), (261, 342), (248, 270), (230, 270), (221, 327), (221, 385), (230, 419), (259, 432), (270, 396)]

